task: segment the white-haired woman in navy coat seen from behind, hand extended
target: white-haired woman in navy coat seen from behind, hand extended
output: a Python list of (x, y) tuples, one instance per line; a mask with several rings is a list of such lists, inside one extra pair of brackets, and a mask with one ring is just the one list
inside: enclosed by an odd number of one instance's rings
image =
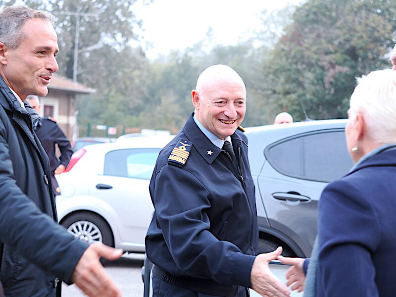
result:
[(304, 290), (304, 297), (394, 297), (396, 71), (361, 78), (348, 117), (347, 148), (355, 165), (323, 190), (311, 259), (279, 259), (294, 265), (287, 285)]

